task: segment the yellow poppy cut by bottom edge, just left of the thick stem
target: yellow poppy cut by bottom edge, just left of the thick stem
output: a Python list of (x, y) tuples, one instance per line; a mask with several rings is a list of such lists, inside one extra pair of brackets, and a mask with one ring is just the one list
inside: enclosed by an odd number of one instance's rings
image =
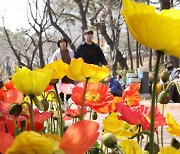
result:
[(131, 139), (122, 140), (119, 143), (120, 147), (125, 154), (142, 154), (142, 150), (139, 147), (138, 143)]

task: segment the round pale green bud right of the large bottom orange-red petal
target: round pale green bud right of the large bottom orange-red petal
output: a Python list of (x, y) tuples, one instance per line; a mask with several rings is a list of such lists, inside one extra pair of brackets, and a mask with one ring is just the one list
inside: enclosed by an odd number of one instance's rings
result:
[(117, 145), (117, 138), (112, 133), (105, 133), (101, 137), (101, 142), (108, 148), (114, 148)]

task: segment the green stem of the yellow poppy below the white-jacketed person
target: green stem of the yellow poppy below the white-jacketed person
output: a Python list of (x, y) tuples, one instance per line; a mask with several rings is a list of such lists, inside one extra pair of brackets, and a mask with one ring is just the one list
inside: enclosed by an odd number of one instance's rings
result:
[(58, 90), (56, 85), (54, 85), (54, 89), (56, 91), (56, 96), (57, 96), (57, 101), (58, 101), (58, 105), (59, 105), (59, 111), (60, 111), (60, 136), (62, 137), (64, 134), (64, 125), (63, 125), (63, 118), (62, 118), (62, 107), (61, 107), (61, 101), (59, 98), (59, 94), (58, 94)]

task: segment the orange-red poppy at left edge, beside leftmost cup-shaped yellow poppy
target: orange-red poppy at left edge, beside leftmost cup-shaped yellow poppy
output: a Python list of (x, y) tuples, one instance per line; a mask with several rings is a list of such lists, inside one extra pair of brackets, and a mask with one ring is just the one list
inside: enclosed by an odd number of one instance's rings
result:
[(5, 103), (17, 103), (22, 97), (23, 94), (14, 87), (12, 80), (6, 82), (0, 89), (0, 100)]

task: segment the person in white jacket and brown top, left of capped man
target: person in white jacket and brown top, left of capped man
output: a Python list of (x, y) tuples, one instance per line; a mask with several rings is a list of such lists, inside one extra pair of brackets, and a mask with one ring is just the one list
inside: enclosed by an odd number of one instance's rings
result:
[[(68, 42), (65, 38), (61, 38), (57, 42), (58, 49), (53, 53), (51, 62), (56, 61), (58, 59), (62, 59), (62, 61), (66, 64), (70, 64), (71, 59), (74, 58), (74, 52), (68, 48)], [(69, 79), (67, 76), (64, 76), (61, 81), (58, 82), (57, 86), (58, 89), (61, 85), (61, 83), (73, 83), (73, 80)], [(71, 97), (71, 95), (66, 95), (60, 92), (60, 97), (62, 101), (65, 102), (65, 107), (67, 108), (68, 105), (68, 100)]]

